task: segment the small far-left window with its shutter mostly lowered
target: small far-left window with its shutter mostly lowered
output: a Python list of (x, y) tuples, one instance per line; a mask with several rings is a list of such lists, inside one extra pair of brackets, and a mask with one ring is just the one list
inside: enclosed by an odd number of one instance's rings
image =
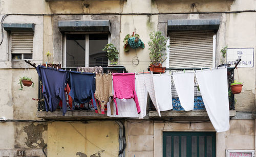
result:
[(33, 38), (31, 32), (11, 33), (12, 60), (31, 60), (33, 56)]

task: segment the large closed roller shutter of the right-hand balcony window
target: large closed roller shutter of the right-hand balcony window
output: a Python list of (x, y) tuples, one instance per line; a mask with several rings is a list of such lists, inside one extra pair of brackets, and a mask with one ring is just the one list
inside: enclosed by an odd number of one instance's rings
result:
[(170, 32), (169, 67), (212, 67), (213, 31)]

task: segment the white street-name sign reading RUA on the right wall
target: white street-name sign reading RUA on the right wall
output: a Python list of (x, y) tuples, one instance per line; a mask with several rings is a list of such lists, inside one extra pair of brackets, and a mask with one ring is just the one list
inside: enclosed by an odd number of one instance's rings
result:
[(234, 67), (238, 59), (241, 59), (238, 67), (253, 67), (253, 48), (228, 48), (227, 63)]

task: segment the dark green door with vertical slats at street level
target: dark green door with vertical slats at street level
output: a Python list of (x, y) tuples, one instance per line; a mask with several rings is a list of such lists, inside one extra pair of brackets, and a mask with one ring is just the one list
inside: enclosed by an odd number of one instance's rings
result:
[(204, 156), (216, 156), (216, 132), (163, 132), (163, 157)]

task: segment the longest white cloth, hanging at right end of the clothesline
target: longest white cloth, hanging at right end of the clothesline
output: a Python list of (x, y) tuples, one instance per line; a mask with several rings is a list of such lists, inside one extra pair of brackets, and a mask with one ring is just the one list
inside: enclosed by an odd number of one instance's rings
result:
[(227, 69), (196, 71), (197, 81), (210, 121), (217, 133), (229, 129)]

